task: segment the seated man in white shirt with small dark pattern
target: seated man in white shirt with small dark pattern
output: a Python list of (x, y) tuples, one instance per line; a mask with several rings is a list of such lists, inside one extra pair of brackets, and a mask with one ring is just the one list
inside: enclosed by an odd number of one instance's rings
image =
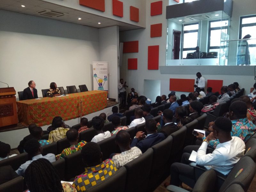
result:
[(130, 147), (130, 142), (131, 138), (128, 132), (121, 130), (116, 134), (116, 144), (119, 146), (121, 153), (116, 153), (112, 157), (112, 161), (115, 163), (117, 169), (142, 155), (139, 148)]

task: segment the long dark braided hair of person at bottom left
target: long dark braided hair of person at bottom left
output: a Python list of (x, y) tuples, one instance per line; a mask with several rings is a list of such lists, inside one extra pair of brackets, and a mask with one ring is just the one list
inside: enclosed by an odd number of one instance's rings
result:
[(57, 170), (45, 158), (29, 164), (24, 179), (30, 192), (63, 192)]

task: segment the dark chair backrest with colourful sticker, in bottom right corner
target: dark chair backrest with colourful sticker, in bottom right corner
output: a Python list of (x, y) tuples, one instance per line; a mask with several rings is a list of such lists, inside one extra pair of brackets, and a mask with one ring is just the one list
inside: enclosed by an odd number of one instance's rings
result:
[(255, 175), (255, 171), (256, 165), (254, 161), (248, 156), (242, 157), (229, 172), (228, 177), (220, 187), (219, 191), (225, 191), (234, 183), (241, 185), (244, 191), (247, 191)]

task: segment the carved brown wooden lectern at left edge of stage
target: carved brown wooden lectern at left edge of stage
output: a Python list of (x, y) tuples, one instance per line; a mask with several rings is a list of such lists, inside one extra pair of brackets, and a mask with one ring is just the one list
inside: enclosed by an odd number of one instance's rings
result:
[(0, 88), (0, 127), (18, 123), (15, 94), (13, 87)]

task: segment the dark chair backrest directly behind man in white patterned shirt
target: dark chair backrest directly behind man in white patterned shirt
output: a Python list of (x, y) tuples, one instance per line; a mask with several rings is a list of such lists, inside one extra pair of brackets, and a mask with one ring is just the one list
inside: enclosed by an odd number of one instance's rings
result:
[(146, 191), (146, 186), (148, 186), (148, 180), (151, 171), (150, 167), (152, 166), (152, 160), (153, 149), (149, 148), (141, 156), (124, 165), (127, 170), (124, 191)]

